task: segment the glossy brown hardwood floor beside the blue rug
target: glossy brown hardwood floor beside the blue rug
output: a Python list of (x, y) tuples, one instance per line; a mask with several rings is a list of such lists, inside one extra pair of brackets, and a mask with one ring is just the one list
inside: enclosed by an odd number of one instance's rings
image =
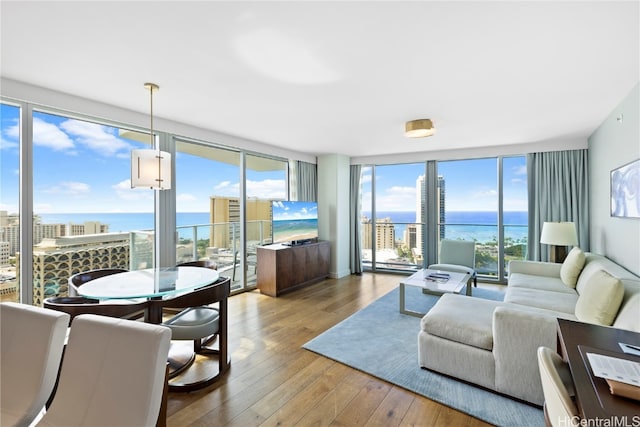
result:
[(398, 286), (400, 279), (365, 273), (278, 298), (258, 291), (231, 297), (231, 370), (207, 389), (170, 393), (167, 425), (489, 425), (301, 348)]

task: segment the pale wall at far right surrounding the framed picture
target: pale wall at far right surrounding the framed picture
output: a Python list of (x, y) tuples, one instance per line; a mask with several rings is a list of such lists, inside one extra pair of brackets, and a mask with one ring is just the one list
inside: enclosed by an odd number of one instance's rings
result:
[(640, 159), (639, 106), (637, 84), (589, 137), (591, 252), (606, 255), (635, 274), (640, 274), (640, 218), (611, 216), (610, 173)]

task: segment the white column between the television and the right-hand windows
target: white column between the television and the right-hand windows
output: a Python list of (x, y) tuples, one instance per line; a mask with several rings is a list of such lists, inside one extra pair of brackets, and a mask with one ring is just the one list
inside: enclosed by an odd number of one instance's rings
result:
[(318, 157), (318, 231), (331, 242), (330, 277), (351, 274), (349, 268), (349, 157)]

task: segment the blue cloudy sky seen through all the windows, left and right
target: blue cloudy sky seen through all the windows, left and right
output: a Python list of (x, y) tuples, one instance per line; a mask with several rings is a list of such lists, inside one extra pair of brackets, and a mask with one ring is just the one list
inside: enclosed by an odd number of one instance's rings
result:
[[(0, 210), (18, 208), (18, 109), (2, 104), (0, 133)], [(130, 153), (148, 148), (119, 137), (118, 129), (43, 113), (34, 115), (34, 211), (152, 212), (154, 192), (130, 188)], [(523, 157), (505, 161), (505, 210), (526, 210)], [(496, 210), (495, 159), (439, 163), (445, 176), (447, 210)], [(239, 168), (195, 155), (176, 154), (176, 202), (179, 212), (208, 212), (209, 197), (239, 195)], [(414, 211), (416, 178), (424, 163), (379, 166), (377, 209)], [(370, 203), (370, 179), (364, 176), (363, 203)], [(369, 184), (367, 184), (369, 180)], [(286, 199), (284, 171), (247, 171), (250, 197)]]

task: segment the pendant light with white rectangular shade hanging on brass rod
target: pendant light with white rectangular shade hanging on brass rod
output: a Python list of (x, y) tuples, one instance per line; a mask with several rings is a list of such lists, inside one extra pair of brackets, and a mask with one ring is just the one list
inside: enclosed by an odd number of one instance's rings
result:
[(131, 188), (152, 190), (171, 189), (171, 153), (160, 151), (153, 134), (153, 91), (160, 87), (155, 83), (145, 83), (151, 93), (150, 137), (153, 149), (131, 151)]

